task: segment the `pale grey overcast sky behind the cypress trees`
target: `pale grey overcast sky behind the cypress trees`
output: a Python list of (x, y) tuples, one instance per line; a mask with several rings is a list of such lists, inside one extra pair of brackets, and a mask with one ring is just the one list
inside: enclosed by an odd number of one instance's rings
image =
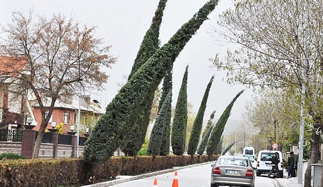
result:
[[(13, 11), (27, 13), (30, 9), (35, 14), (51, 16), (61, 12), (68, 17), (74, 16), (76, 21), (87, 25), (96, 25), (96, 36), (104, 37), (106, 45), (112, 45), (111, 54), (118, 56), (118, 62), (108, 70), (110, 75), (105, 85), (106, 91), (92, 93), (91, 97), (98, 99), (102, 106), (106, 106), (118, 92), (117, 83), (124, 82), (123, 75), (130, 73), (133, 61), (138, 52), (142, 38), (151, 24), (151, 19), (157, 8), (159, 0), (0, 0), (0, 23), (5, 25), (11, 21)], [(161, 24), (161, 44), (166, 43), (170, 37), (187, 22), (207, 0), (169, 0), (164, 11)], [(225, 82), (225, 72), (218, 72), (209, 66), (209, 58), (220, 53), (223, 58), (228, 48), (234, 45), (219, 46), (209, 34), (211, 25), (215, 25), (217, 17), (233, 5), (231, 0), (220, 1), (210, 20), (203, 23), (197, 34), (188, 42), (184, 50), (174, 63), (173, 68), (173, 106), (182, 82), (182, 76), (187, 64), (188, 74), (188, 101), (197, 112), (200, 106), (206, 85), (212, 75), (215, 75), (204, 119), (208, 119), (213, 110), (216, 116), (224, 111), (234, 96), (245, 89), (242, 85), (228, 86)], [(224, 80), (223, 80), (224, 79)], [(253, 92), (246, 90), (235, 102), (232, 109), (232, 119), (241, 118), (245, 110), (246, 100), (251, 98)]]

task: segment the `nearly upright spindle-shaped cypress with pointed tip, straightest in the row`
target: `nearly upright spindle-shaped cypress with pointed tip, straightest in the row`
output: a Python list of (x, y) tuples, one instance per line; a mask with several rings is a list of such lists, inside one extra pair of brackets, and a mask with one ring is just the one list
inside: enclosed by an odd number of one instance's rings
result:
[(172, 125), (172, 149), (175, 155), (182, 155), (185, 151), (187, 125), (187, 76), (188, 65), (186, 66), (182, 86), (178, 94)]

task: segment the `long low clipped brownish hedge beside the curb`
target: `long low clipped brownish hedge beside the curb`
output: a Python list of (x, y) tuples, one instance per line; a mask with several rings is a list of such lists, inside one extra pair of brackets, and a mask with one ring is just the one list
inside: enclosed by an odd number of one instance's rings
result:
[[(194, 156), (137, 156), (111, 157), (107, 162), (96, 164), (91, 180), (99, 182), (117, 175), (138, 175), (217, 160), (218, 155)], [(87, 184), (86, 167), (81, 159), (28, 159), (0, 162), (1, 187), (50, 187)]]

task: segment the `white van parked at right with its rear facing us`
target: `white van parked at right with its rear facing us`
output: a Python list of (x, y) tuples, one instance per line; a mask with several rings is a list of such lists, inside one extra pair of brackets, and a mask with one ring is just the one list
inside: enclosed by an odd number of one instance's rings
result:
[(283, 164), (283, 155), (280, 151), (269, 151), (269, 150), (261, 150), (258, 153), (257, 158), (257, 170), (256, 175), (260, 176), (263, 173), (269, 173), (272, 166), (271, 166), (271, 157), (275, 153), (278, 153), (278, 169), (279, 169), (279, 177), (283, 178), (283, 172), (284, 172), (284, 164)]

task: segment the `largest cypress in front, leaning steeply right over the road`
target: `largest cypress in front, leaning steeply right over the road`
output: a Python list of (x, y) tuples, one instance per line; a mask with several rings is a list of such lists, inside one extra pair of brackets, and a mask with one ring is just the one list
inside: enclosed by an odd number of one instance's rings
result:
[(132, 125), (129, 123), (132, 112), (141, 107), (151, 90), (157, 89), (179, 53), (217, 3), (218, 0), (208, 1), (120, 89), (106, 107), (106, 113), (99, 119), (86, 142), (83, 159), (87, 164), (93, 165), (93, 162), (108, 160), (123, 143), (124, 132), (129, 131)]

